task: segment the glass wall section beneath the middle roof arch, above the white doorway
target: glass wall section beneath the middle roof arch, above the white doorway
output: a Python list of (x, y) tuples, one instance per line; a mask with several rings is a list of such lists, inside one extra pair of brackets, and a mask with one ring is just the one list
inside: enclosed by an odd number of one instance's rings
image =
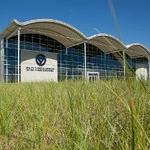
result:
[(87, 71), (99, 72), (100, 78), (123, 76), (122, 54), (106, 54), (99, 48), (87, 44)]

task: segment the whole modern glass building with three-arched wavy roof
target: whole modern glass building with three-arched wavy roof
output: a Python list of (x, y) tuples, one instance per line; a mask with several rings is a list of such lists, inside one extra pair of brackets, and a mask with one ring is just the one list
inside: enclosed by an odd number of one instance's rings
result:
[(1, 82), (149, 78), (149, 49), (52, 19), (13, 20), (0, 33)]

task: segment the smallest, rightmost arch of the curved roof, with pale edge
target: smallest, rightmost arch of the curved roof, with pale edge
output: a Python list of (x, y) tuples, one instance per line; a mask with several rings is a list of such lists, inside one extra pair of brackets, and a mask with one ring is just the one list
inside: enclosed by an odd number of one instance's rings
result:
[(150, 51), (143, 44), (140, 43), (132, 43), (126, 46), (126, 53), (134, 58), (137, 57), (145, 57), (150, 55)]

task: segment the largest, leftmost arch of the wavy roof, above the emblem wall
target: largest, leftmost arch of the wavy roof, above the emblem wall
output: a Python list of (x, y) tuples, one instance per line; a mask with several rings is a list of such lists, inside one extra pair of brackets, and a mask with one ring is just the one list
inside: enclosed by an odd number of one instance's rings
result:
[(18, 27), (21, 27), (21, 33), (44, 34), (54, 38), (66, 47), (85, 41), (86, 39), (86, 36), (75, 27), (53, 19), (35, 19), (26, 22), (13, 20), (3, 34), (6, 36), (10, 35)]

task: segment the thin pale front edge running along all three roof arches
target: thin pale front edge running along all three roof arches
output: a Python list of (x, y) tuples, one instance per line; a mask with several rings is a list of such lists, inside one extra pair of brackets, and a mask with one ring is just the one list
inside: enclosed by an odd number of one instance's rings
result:
[(99, 33), (99, 34), (95, 34), (95, 35), (92, 35), (92, 36), (89, 36), (87, 37), (84, 33), (82, 33), (79, 29), (77, 29), (76, 27), (68, 24), (68, 23), (65, 23), (63, 21), (59, 21), (59, 20), (55, 20), (55, 19), (48, 19), (48, 18), (44, 18), (44, 19), (32, 19), (32, 20), (28, 20), (28, 21), (25, 21), (25, 22), (20, 22), (18, 21), (17, 19), (14, 19), (10, 24), (9, 26), (3, 31), (0, 33), (0, 37), (3, 36), (3, 33), (5, 33), (6, 30), (9, 31), (9, 28), (11, 26), (14, 26), (16, 25), (16, 28), (17, 27), (24, 27), (24, 26), (28, 26), (30, 24), (36, 24), (36, 23), (56, 23), (58, 25), (61, 25), (61, 26), (64, 26), (70, 30), (72, 30), (74, 33), (78, 34), (82, 39), (83, 39), (83, 42), (85, 41), (90, 41), (92, 39), (95, 39), (97, 37), (109, 37), (111, 38), (112, 40), (118, 42), (123, 48), (125, 49), (130, 49), (132, 46), (140, 46), (143, 48), (143, 50), (145, 50), (148, 54), (150, 54), (150, 49), (148, 47), (146, 47), (144, 44), (141, 44), (141, 43), (131, 43), (129, 45), (125, 45), (120, 39), (118, 39), (117, 37), (113, 36), (113, 35), (110, 35), (110, 34), (106, 34), (106, 33)]

